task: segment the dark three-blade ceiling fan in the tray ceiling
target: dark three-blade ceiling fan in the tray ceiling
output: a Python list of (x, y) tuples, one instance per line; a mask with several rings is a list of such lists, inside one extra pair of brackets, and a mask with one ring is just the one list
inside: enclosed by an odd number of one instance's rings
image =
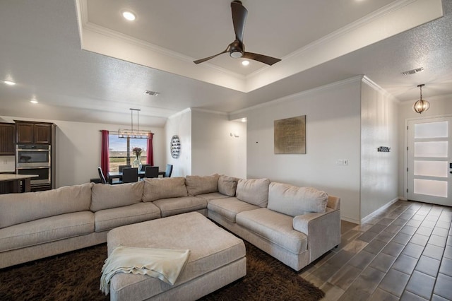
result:
[(230, 45), (227, 46), (225, 51), (215, 54), (212, 57), (206, 57), (204, 59), (198, 59), (194, 61), (195, 64), (202, 63), (203, 61), (208, 61), (214, 57), (218, 57), (220, 54), (229, 52), (230, 56), (233, 58), (242, 57), (244, 59), (254, 59), (254, 61), (261, 61), (264, 64), (273, 65), (278, 63), (280, 59), (275, 59), (274, 57), (267, 57), (263, 54), (257, 54), (252, 52), (245, 52), (245, 45), (243, 44), (243, 31), (245, 27), (245, 20), (248, 11), (242, 5), (242, 1), (234, 0), (231, 2), (232, 10), (232, 23), (234, 24), (235, 40)]

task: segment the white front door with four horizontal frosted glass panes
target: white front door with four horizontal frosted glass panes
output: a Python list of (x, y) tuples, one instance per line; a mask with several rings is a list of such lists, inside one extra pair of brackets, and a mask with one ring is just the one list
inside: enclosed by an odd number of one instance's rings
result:
[(452, 117), (408, 122), (407, 199), (452, 206)]

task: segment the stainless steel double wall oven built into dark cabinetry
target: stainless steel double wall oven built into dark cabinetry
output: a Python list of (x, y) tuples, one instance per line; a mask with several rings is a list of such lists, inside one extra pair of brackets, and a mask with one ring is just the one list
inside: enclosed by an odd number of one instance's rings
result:
[(47, 144), (17, 144), (16, 174), (37, 175), (31, 184), (51, 183), (51, 146)]

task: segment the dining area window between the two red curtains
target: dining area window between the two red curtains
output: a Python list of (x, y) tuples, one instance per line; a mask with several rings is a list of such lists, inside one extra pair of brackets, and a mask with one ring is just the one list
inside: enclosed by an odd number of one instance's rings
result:
[(119, 165), (131, 165), (135, 159), (133, 148), (141, 148), (141, 163), (146, 163), (148, 139), (119, 138), (118, 134), (108, 135), (109, 143), (109, 171), (117, 172)]

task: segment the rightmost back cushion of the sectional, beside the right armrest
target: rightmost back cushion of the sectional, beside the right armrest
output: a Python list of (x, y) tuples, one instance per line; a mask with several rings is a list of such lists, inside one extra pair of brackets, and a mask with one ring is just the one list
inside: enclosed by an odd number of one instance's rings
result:
[(327, 203), (328, 194), (314, 187), (295, 187), (273, 182), (268, 188), (268, 209), (288, 216), (324, 213)]

